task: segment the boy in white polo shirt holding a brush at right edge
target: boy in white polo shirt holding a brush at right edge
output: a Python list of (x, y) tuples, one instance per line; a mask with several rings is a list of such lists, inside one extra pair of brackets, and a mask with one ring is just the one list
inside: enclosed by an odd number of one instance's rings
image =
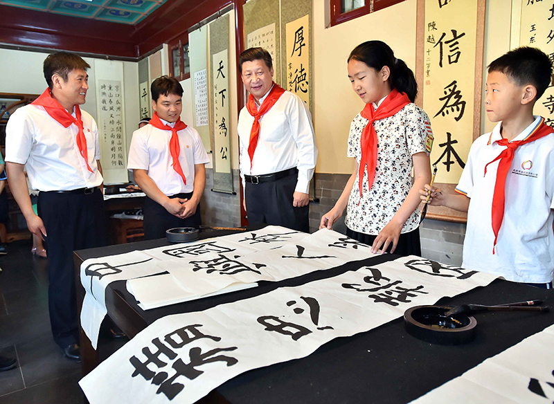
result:
[(463, 267), (510, 281), (552, 287), (554, 269), (554, 129), (533, 116), (552, 80), (552, 62), (522, 47), (488, 66), (485, 109), (490, 134), (470, 149), (458, 194), (431, 190), (431, 205), (467, 211)]

